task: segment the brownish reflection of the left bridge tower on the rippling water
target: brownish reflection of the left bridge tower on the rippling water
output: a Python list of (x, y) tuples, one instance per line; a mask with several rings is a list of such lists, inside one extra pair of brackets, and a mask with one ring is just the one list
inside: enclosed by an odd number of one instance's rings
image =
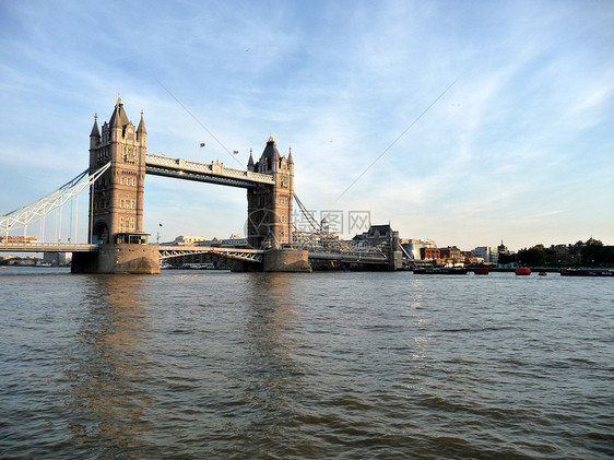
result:
[(140, 385), (147, 380), (141, 351), (143, 279), (98, 275), (91, 281), (67, 371), (69, 426), (78, 445), (98, 445), (110, 456), (113, 449), (139, 451), (143, 433), (153, 426), (143, 418), (152, 398)]

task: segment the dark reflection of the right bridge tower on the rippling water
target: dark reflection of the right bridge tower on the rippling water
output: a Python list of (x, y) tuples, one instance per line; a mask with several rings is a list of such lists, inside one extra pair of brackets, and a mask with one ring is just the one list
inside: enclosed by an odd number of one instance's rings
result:
[(232, 441), (208, 435), (203, 441), (217, 456), (248, 458), (263, 455), (267, 446), (292, 443), (284, 430), (293, 423), (293, 396), (302, 388), (303, 370), (293, 358), (297, 316), (287, 276), (251, 274), (234, 294), (237, 302), (229, 306), (234, 311), (226, 314), (229, 325), (222, 327), (233, 342), (223, 370), (232, 392), (212, 398), (215, 413), (208, 415), (208, 424), (223, 418)]

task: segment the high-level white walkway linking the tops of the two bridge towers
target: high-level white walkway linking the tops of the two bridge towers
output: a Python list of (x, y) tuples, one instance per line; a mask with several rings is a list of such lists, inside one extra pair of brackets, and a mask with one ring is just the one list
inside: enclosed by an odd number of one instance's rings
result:
[(234, 169), (219, 162), (198, 163), (184, 158), (155, 155), (153, 153), (145, 155), (145, 173), (154, 176), (174, 177), (176, 179), (239, 188), (255, 188), (259, 184), (270, 186), (275, 184), (273, 176), (270, 174)]

